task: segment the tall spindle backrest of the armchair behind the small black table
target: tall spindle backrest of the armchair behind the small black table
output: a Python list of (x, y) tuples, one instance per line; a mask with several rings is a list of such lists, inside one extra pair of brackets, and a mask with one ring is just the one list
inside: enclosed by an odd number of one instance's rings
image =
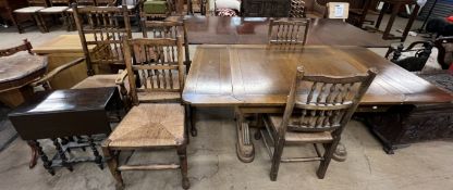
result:
[[(86, 55), (88, 75), (110, 67), (111, 72), (124, 68), (122, 38), (131, 39), (131, 22), (126, 5), (86, 7), (75, 4), (74, 20)], [(84, 18), (87, 21), (84, 23)], [(98, 46), (98, 52), (88, 51), (88, 46)], [(97, 66), (97, 67), (95, 67)]]

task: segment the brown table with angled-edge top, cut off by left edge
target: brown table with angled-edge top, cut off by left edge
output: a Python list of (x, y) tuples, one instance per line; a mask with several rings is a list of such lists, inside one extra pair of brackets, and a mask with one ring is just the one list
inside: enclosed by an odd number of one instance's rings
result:
[(15, 107), (33, 96), (27, 85), (46, 74), (47, 58), (21, 52), (0, 58), (0, 101)]

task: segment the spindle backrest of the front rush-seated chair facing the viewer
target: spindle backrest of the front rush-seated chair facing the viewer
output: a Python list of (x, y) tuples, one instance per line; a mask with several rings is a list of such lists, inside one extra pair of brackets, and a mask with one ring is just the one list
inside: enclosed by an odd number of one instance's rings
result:
[[(184, 89), (185, 66), (183, 64), (182, 37), (176, 39), (123, 39), (124, 58), (128, 75), (131, 97), (138, 104), (138, 92), (179, 92)], [(135, 63), (133, 64), (133, 58)], [(142, 88), (136, 88), (142, 86)]]

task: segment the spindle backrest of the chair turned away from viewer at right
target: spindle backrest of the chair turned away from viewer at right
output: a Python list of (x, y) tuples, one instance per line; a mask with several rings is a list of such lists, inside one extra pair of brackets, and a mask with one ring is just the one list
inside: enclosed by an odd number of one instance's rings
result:
[(375, 68), (367, 74), (345, 77), (304, 75), (304, 68), (298, 67), (281, 128), (305, 132), (341, 131), (376, 75)]

